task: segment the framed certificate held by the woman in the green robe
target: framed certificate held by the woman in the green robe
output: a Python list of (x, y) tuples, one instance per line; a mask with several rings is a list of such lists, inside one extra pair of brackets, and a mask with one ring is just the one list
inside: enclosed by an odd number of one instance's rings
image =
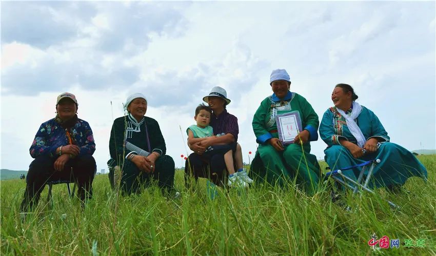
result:
[(278, 114), (275, 116), (275, 122), (279, 132), (279, 139), (283, 145), (293, 143), (295, 136), (303, 130), (301, 126), (300, 112), (298, 111)]

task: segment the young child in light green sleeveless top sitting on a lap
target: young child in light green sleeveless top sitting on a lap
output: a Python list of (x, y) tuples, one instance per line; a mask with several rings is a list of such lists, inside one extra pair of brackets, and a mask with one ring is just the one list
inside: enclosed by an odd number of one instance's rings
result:
[[(212, 109), (210, 107), (200, 104), (195, 109), (194, 120), (196, 121), (196, 125), (189, 126), (186, 129), (186, 133), (188, 133), (188, 143), (194, 144), (197, 142), (201, 142), (207, 139), (207, 137), (214, 136), (213, 128), (209, 125), (210, 116), (212, 115)], [(220, 136), (224, 134), (216, 134), (216, 136)], [(242, 149), (239, 144), (236, 144), (236, 152), (234, 154), (234, 158), (236, 161), (237, 172), (235, 173), (234, 165), (233, 165), (233, 154), (230, 145), (213, 145), (206, 149), (206, 154), (216, 154), (216, 153), (224, 153), (224, 162), (226, 163), (227, 170), (229, 171), (229, 179), (228, 186), (229, 187), (247, 187), (248, 183), (252, 183), (253, 181), (248, 178), (247, 175), (238, 175), (239, 173), (245, 172), (244, 166), (242, 163)], [(245, 174), (245, 173), (244, 173)]]

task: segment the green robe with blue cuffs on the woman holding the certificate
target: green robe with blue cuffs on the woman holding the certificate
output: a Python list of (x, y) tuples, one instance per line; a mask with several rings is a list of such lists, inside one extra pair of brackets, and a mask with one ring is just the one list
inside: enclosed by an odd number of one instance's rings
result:
[(253, 131), (259, 147), (251, 163), (250, 176), (280, 186), (296, 178), (306, 189), (314, 191), (319, 183), (320, 166), (316, 156), (310, 154), (310, 143), (285, 145), (285, 150), (279, 152), (267, 142), (279, 137), (275, 115), (292, 111), (300, 113), (302, 128), (310, 133), (309, 141), (318, 140), (318, 115), (306, 99), (290, 91), (282, 100), (272, 94), (262, 101), (253, 116)]

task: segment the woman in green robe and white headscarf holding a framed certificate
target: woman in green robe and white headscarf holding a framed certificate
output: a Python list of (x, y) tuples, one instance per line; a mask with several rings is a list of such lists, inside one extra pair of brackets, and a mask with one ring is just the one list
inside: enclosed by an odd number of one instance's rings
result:
[[(259, 143), (251, 163), (250, 175), (268, 183), (284, 186), (295, 180), (308, 191), (318, 188), (320, 166), (310, 154), (310, 142), (318, 140), (319, 120), (312, 106), (298, 93), (291, 92), (291, 80), (285, 69), (271, 72), (273, 94), (266, 97), (253, 116), (253, 131)], [(278, 117), (294, 114), (301, 124), (289, 140), (280, 139)], [(296, 131), (295, 131), (296, 130)]]

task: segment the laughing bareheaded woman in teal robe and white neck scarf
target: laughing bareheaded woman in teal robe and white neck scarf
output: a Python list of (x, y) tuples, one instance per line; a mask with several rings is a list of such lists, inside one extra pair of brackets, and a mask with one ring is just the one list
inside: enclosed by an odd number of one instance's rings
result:
[[(389, 136), (378, 117), (356, 103), (358, 96), (347, 84), (334, 87), (334, 106), (324, 113), (320, 125), (321, 139), (327, 144), (325, 160), (330, 168), (338, 169), (380, 159), (373, 170), (376, 187), (397, 191), (408, 178), (427, 178), (427, 170), (407, 149), (389, 142)], [(343, 171), (354, 181), (357, 170)]]

